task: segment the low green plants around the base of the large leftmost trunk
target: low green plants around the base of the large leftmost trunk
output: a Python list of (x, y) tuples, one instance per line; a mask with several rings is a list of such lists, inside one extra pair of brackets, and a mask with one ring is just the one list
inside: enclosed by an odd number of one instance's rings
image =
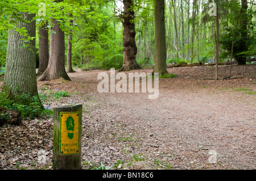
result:
[(7, 98), (0, 92), (0, 107), (20, 111), (23, 119), (33, 119), (42, 116), (44, 108), (38, 97), (28, 94), (16, 95), (14, 99)]

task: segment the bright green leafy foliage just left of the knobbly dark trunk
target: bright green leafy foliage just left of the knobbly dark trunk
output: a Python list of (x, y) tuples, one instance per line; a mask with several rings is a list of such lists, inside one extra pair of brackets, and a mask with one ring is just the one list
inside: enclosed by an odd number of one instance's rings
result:
[(112, 2), (99, 5), (89, 1), (89, 5), (90, 12), (77, 19), (79, 30), (74, 31), (72, 63), (82, 70), (119, 69), (123, 63), (122, 26), (113, 17)]

